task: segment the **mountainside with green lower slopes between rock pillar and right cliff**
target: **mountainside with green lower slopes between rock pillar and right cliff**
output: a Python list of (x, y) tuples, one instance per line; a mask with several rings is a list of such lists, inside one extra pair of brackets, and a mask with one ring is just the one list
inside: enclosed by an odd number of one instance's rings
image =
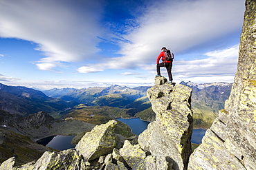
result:
[(219, 115), (219, 110), (224, 109), (228, 99), (232, 83), (205, 83), (192, 82), (181, 84), (193, 89), (191, 105), (193, 110), (194, 128), (208, 128)]

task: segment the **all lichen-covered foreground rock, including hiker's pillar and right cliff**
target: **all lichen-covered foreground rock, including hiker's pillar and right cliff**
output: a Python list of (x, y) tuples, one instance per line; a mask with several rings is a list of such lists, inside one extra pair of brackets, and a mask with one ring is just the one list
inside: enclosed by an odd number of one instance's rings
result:
[[(75, 149), (46, 151), (21, 166), (12, 157), (0, 170), (109, 169), (187, 170), (256, 169), (256, 0), (246, 0), (239, 63), (225, 109), (192, 153), (192, 89), (156, 77), (147, 96), (156, 120), (124, 142), (113, 133), (117, 120), (86, 132)], [(192, 154), (191, 154), (192, 153)]]

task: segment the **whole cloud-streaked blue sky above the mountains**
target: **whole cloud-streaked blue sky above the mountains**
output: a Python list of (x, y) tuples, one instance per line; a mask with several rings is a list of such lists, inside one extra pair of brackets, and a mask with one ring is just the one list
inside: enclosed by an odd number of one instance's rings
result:
[[(0, 83), (37, 89), (233, 82), (244, 0), (0, 0)], [(166, 70), (161, 69), (167, 77)]]

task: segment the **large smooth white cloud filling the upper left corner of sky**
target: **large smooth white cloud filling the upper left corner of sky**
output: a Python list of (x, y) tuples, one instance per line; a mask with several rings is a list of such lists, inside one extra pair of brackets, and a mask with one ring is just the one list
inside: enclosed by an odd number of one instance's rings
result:
[(41, 63), (77, 62), (98, 51), (101, 14), (99, 1), (2, 0), (0, 36), (37, 43)]

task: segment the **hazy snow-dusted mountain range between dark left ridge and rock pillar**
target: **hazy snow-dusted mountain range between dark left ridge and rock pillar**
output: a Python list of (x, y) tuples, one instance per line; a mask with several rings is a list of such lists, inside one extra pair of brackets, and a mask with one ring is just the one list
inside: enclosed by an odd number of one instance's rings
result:
[(151, 106), (147, 99), (149, 86), (130, 88), (120, 85), (110, 87), (89, 87), (84, 89), (50, 89), (46, 95), (88, 106), (109, 106), (125, 109), (134, 108), (134, 114)]

